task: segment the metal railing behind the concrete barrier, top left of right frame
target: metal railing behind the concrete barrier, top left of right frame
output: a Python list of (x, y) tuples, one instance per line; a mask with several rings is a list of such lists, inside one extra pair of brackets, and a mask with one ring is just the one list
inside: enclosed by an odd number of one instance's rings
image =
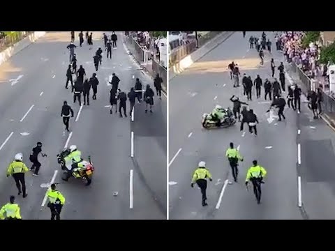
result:
[[(206, 33), (204, 36), (198, 38), (198, 47), (202, 47), (202, 45), (204, 45), (209, 40), (216, 37), (222, 32), (224, 31), (209, 31), (209, 33)], [(192, 40), (191, 43), (181, 45), (180, 47), (172, 50), (169, 55), (169, 66), (173, 66), (174, 64), (178, 63), (179, 61), (181, 61), (181, 59), (184, 59), (186, 56), (188, 56), (197, 49), (197, 41)]]

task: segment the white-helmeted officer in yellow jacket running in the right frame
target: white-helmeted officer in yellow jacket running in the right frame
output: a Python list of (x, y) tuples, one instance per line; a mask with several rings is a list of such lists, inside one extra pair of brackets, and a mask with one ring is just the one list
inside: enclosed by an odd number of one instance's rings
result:
[(212, 181), (211, 179), (211, 173), (206, 168), (206, 162), (200, 161), (198, 165), (198, 169), (195, 169), (192, 177), (192, 183), (191, 187), (193, 188), (194, 183), (197, 183), (202, 195), (202, 206), (207, 206), (207, 196), (206, 196), (206, 189), (207, 189), (207, 178), (209, 178), (209, 181)]

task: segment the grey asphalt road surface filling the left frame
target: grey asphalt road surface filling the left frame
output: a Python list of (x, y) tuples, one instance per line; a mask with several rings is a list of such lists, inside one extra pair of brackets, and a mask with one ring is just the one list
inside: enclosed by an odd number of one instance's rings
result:
[[(98, 47), (103, 48), (101, 37), (102, 32), (94, 31), (91, 50), (86, 42), (83, 47), (77, 47), (77, 64), (84, 66), (87, 77), (95, 73), (92, 57)], [(119, 33), (112, 60), (106, 59), (104, 54), (103, 65), (97, 73), (98, 100), (90, 100), (90, 106), (82, 107), (79, 113), (80, 106), (73, 104), (70, 89), (64, 88), (69, 40), (68, 31), (47, 33), (0, 66), (0, 144), (5, 142), (0, 147), (1, 204), (8, 201), (9, 195), (17, 195), (13, 178), (6, 178), (9, 162), (15, 153), (22, 152), (24, 162), (30, 167), (29, 153), (40, 141), (47, 153), (47, 158), (41, 158), (40, 175), (26, 174), (28, 197), (17, 196), (24, 219), (50, 218), (49, 209), (41, 204), (47, 190), (43, 184), (50, 183), (53, 177), (66, 197), (61, 213), (63, 219), (165, 219), (166, 98), (155, 99), (154, 114), (144, 114), (144, 104), (136, 105), (133, 122), (129, 116), (119, 118), (117, 114), (110, 114), (105, 106), (109, 105), (107, 79), (112, 73), (119, 76), (119, 86), (126, 93), (135, 84), (136, 77), (144, 86), (153, 87), (152, 80), (126, 53)], [(20, 75), (22, 77), (17, 79)], [(17, 82), (12, 85), (10, 79)], [(73, 131), (70, 139), (70, 134), (64, 133), (60, 117), (64, 100), (68, 100), (75, 111), (75, 118), (70, 120)], [(134, 158), (131, 158), (132, 131)], [(22, 132), (29, 135), (21, 135)], [(89, 187), (74, 178), (67, 183), (61, 180), (56, 155), (66, 142), (68, 146), (76, 144), (85, 159), (91, 155), (96, 170)], [(114, 197), (113, 192), (118, 195)]]

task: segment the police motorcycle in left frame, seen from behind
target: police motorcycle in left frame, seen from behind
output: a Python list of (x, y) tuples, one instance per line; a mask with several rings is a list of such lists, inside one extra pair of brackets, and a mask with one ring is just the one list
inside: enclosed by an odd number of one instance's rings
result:
[(74, 178), (81, 178), (85, 185), (90, 185), (94, 173), (94, 165), (91, 162), (91, 157), (89, 156), (88, 161), (81, 160), (77, 163), (77, 167), (73, 168), (73, 161), (66, 161), (66, 156), (71, 153), (71, 147), (72, 146), (70, 146), (70, 148), (64, 148), (61, 153), (57, 154), (57, 162), (61, 166), (61, 169), (65, 171), (62, 175), (62, 179), (68, 181), (68, 178), (73, 176)]

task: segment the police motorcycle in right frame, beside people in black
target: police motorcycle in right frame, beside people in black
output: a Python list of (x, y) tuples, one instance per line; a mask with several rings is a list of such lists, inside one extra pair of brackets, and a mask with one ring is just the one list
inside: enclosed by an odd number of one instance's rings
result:
[(228, 128), (230, 126), (233, 126), (234, 123), (236, 123), (236, 119), (234, 118), (234, 114), (232, 113), (232, 110), (228, 108), (223, 108), (220, 106), (216, 106), (216, 109), (222, 109), (222, 112), (224, 114), (224, 118), (220, 123), (218, 121), (213, 120), (212, 113), (210, 114), (203, 114), (202, 115), (202, 127), (205, 129), (210, 128)]

